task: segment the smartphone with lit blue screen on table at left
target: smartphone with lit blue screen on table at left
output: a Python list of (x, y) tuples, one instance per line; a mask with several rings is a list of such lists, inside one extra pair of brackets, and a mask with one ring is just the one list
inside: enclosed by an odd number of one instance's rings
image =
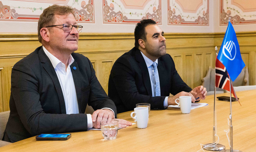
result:
[(41, 134), (36, 136), (36, 140), (68, 140), (71, 134)]

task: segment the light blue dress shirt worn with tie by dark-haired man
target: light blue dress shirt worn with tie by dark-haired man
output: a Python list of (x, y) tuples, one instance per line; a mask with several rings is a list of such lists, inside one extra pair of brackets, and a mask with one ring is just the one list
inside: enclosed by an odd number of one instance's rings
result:
[[(152, 90), (152, 97), (155, 97), (155, 75), (154, 75), (154, 68), (152, 67), (152, 64), (154, 63), (152, 60), (150, 60), (148, 57), (146, 57), (141, 51), (140, 53), (142, 54), (146, 65), (148, 67), (148, 73), (149, 73), (149, 77), (150, 77), (150, 83), (151, 83), (151, 90)], [(155, 60), (156, 65), (158, 66), (158, 59)], [(159, 75), (157, 75), (158, 79), (159, 79)], [(161, 90), (161, 88), (160, 88)], [(168, 97), (165, 97), (164, 100), (164, 107), (167, 108), (168, 107)]]

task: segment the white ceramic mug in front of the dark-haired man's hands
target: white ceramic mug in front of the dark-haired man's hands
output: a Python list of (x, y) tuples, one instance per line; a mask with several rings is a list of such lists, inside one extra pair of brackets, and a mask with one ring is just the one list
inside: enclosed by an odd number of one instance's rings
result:
[[(180, 102), (177, 102), (180, 100)], [(180, 96), (175, 100), (175, 103), (180, 107), (181, 113), (190, 113), (191, 110), (191, 96)]]

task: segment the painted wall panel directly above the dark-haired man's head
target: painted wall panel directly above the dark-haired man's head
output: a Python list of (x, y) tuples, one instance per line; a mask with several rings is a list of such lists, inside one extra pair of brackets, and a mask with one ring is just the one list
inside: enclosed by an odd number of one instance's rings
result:
[(153, 19), (162, 24), (161, 0), (102, 0), (104, 24), (136, 24)]

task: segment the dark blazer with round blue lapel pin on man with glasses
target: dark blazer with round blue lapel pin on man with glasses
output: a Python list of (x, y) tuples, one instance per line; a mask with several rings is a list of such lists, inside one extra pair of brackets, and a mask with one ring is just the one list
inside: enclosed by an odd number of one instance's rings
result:
[(90, 60), (78, 53), (71, 55), (79, 114), (66, 114), (59, 79), (42, 47), (13, 66), (10, 116), (5, 129), (11, 142), (41, 133), (86, 131), (87, 103), (94, 110), (111, 108), (116, 116), (116, 106), (101, 87)]

